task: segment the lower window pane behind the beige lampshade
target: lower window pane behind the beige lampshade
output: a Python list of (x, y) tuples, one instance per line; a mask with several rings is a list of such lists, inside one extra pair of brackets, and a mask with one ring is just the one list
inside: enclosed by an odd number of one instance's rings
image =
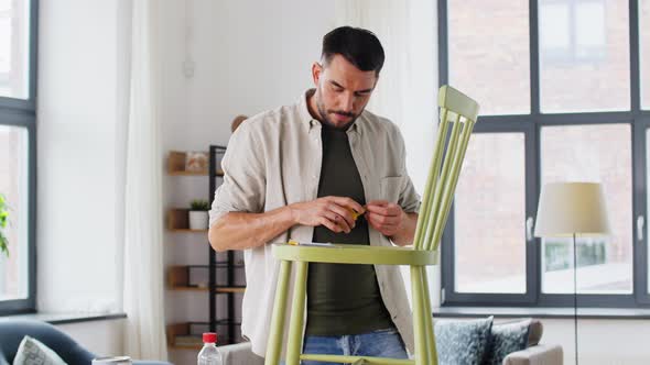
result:
[[(631, 130), (627, 123), (543, 126), (542, 185), (599, 181), (613, 234), (578, 239), (577, 289), (589, 294), (632, 292)], [(573, 292), (573, 242), (542, 239), (542, 292)]]

